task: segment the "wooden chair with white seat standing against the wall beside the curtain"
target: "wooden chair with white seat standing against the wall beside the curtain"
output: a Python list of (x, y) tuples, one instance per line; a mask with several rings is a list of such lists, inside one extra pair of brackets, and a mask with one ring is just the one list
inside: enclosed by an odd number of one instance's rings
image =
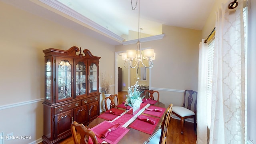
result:
[[(193, 97), (194, 97), (194, 99), (193, 99)], [(186, 100), (187, 100), (187, 104), (186, 104)], [(191, 107), (193, 106), (192, 105), (193, 100), (194, 100), (194, 108), (193, 108), (193, 110), (191, 110)], [(194, 90), (185, 90), (183, 105), (172, 107), (172, 113), (180, 118), (180, 124), (181, 124), (181, 132), (180, 133), (181, 134), (183, 134), (184, 120), (186, 118), (194, 118), (194, 130), (196, 131), (196, 103), (197, 103), (197, 92)]]

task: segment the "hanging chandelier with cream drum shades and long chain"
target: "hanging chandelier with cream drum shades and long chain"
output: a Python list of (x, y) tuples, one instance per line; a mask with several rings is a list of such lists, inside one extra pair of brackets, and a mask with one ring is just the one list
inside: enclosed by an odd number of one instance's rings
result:
[[(131, 0), (132, 3), (132, 0)], [(138, 42), (137, 42), (137, 50), (127, 50), (122, 53), (122, 60), (125, 60), (124, 67), (125, 68), (139, 68), (140, 64), (145, 68), (152, 68), (153, 62), (155, 60), (156, 53), (154, 53), (154, 49), (146, 49), (141, 50), (141, 42), (140, 42), (140, 33), (142, 28), (140, 28), (140, 0), (136, 0), (136, 6), (138, 4)], [(136, 6), (132, 10), (135, 10)], [(147, 60), (148, 64), (144, 64), (143, 60)]]

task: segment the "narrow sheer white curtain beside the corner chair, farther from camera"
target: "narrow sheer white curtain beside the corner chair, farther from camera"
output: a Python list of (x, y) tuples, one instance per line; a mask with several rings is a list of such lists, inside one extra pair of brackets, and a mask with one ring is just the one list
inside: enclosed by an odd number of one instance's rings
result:
[(197, 105), (197, 144), (207, 144), (206, 96), (208, 75), (208, 43), (199, 44), (198, 63), (198, 105)]

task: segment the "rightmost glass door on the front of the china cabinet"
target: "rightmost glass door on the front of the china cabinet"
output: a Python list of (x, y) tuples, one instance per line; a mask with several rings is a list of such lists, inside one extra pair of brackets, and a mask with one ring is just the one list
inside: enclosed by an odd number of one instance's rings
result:
[(98, 63), (96, 62), (89, 62), (89, 93), (97, 92), (98, 91)]

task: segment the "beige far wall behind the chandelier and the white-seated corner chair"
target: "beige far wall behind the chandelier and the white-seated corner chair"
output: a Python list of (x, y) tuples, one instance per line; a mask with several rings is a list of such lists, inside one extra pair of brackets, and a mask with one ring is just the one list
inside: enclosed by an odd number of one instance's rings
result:
[[(163, 25), (162, 40), (142, 42), (142, 48), (154, 48), (156, 60), (151, 68), (151, 89), (160, 92), (166, 106), (182, 105), (184, 90), (197, 90), (198, 48), (201, 31)], [(118, 45), (116, 52), (135, 49), (136, 44)], [(131, 72), (132, 74), (132, 72)], [(131, 85), (134, 85), (131, 76)]]

